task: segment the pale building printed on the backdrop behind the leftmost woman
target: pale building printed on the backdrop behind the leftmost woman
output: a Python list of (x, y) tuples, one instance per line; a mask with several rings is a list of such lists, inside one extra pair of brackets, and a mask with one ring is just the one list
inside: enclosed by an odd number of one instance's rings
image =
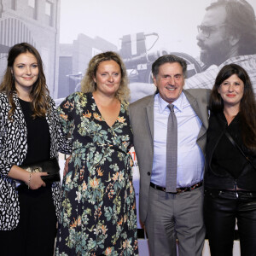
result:
[(0, 78), (9, 48), (26, 42), (44, 61), (51, 96), (57, 95), (60, 0), (0, 0)]

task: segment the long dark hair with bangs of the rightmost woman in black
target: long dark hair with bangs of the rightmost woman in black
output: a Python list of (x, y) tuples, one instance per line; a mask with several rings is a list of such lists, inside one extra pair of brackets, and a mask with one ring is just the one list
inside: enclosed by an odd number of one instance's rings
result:
[(224, 111), (224, 102), (218, 93), (218, 88), (224, 80), (229, 79), (233, 74), (236, 74), (244, 84), (243, 96), (240, 102), (242, 140), (247, 148), (256, 152), (256, 102), (251, 80), (244, 68), (236, 64), (230, 64), (225, 65), (219, 71), (210, 96), (210, 109), (214, 113)]

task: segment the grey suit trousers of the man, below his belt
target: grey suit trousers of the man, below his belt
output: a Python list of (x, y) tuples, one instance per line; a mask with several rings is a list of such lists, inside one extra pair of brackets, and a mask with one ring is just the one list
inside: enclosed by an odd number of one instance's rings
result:
[(150, 256), (201, 256), (205, 240), (203, 187), (180, 194), (149, 189), (145, 221)]

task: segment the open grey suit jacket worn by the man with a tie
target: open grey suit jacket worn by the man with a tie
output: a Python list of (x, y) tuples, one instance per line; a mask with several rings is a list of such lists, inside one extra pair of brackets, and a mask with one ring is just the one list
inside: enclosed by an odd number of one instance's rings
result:
[[(211, 90), (189, 89), (183, 90), (191, 107), (201, 119), (201, 131), (196, 143), (205, 154), (208, 127), (208, 99)], [(146, 96), (130, 105), (131, 128), (134, 136), (134, 148), (140, 170), (140, 219), (144, 223), (148, 212), (148, 193), (153, 166), (154, 149), (154, 95)]]

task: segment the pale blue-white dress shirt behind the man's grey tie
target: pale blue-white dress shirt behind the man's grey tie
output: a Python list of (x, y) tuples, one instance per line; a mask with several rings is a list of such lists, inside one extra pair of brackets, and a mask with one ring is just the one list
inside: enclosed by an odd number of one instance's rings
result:
[[(182, 94), (174, 105), (177, 117), (177, 188), (190, 187), (203, 179), (204, 156), (196, 144), (201, 120)], [(170, 109), (160, 94), (154, 96), (154, 160), (151, 182), (166, 187), (166, 137)]]

